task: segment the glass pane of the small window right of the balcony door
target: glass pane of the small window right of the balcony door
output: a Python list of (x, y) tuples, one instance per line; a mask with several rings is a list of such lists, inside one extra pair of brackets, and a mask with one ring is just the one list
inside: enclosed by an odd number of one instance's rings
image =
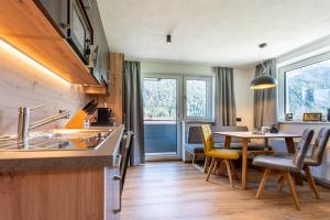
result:
[(207, 81), (186, 80), (186, 108), (189, 118), (207, 118)]

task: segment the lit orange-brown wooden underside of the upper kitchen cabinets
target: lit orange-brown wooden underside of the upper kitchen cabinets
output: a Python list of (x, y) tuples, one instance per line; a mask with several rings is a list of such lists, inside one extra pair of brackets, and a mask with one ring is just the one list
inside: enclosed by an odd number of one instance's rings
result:
[(72, 84), (98, 85), (35, 1), (11, 0), (0, 7), (1, 38)]

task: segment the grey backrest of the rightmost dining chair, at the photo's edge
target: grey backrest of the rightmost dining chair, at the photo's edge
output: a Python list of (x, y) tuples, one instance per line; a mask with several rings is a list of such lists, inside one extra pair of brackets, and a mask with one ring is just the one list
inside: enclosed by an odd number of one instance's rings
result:
[(322, 163), (323, 154), (329, 141), (330, 136), (330, 129), (322, 128), (318, 136), (315, 141), (315, 144), (311, 150), (311, 158), (317, 163), (317, 165), (320, 165)]

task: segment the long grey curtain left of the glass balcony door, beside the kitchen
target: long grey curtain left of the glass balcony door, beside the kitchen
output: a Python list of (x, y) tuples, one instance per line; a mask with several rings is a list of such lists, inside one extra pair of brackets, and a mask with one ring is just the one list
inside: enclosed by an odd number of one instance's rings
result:
[(134, 132), (130, 164), (138, 166), (145, 162), (140, 62), (124, 62), (124, 124)]

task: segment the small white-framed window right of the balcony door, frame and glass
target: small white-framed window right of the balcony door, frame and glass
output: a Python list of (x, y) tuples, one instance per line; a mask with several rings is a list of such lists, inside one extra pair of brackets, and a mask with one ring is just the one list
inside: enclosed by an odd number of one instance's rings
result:
[(211, 77), (185, 77), (186, 120), (211, 120), (212, 103)]

